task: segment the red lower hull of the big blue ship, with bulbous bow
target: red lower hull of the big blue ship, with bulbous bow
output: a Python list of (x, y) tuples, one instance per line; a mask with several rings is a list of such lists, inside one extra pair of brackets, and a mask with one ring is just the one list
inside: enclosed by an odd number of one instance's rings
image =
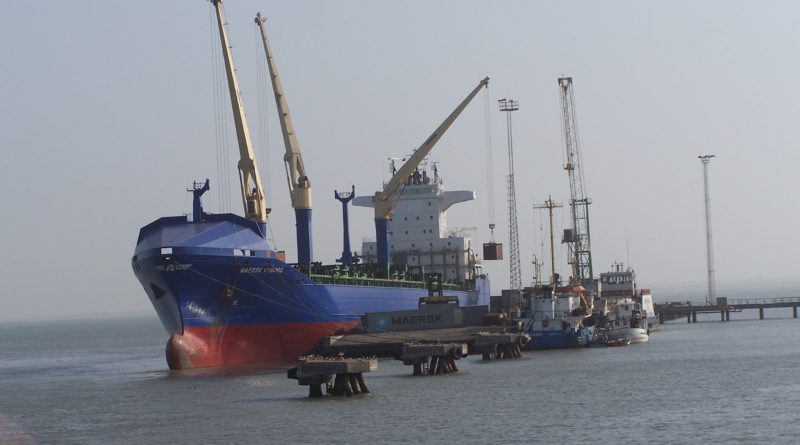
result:
[(285, 365), (308, 354), (322, 337), (358, 322), (198, 326), (172, 334), (166, 355), (170, 369), (229, 365)]

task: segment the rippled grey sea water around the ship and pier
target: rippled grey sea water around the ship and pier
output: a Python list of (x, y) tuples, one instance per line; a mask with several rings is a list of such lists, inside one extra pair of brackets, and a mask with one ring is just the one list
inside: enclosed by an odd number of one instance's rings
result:
[(156, 320), (8, 324), (0, 443), (797, 443), (800, 320), (767, 317), (451, 376), (381, 361), (350, 400), (308, 399), (283, 371), (170, 372)]

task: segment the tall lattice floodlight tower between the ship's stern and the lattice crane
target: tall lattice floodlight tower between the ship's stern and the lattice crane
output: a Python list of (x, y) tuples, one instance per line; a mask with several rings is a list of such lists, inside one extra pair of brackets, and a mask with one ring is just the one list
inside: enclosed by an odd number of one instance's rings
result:
[(511, 112), (519, 110), (519, 102), (500, 99), (500, 111), (506, 113), (506, 132), (508, 134), (508, 244), (509, 280), (514, 293), (513, 305), (522, 307), (522, 272), (519, 258), (519, 233), (517, 227), (517, 192), (514, 188), (514, 143), (511, 138)]

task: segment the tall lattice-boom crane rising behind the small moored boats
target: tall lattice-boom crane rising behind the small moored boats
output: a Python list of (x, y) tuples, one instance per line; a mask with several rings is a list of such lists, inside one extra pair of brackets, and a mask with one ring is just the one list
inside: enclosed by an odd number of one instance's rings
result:
[(572, 77), (560, 77), (561, 115), (564, 125), (564, 148), (569, 176), (572, 229), (564, 230), (564, 243), (569, 246), (569, 263), (572, 265), (574, 283), (587, 284), (594, 279), (592, 273), (591, 238), (589, 236), (589, 204), (591, 200), (584, 189), (581, 152), (578, 146), (578, 124), (575, 118), (575, 102), (572, 95)]

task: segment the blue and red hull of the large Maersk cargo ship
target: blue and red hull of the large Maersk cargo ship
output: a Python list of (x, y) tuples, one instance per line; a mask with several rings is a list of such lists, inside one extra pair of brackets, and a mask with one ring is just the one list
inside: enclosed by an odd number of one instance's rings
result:
[[(290, 362), (365, 313), (414, 309), (428, 295), (413, 281), (318, 284), (281, 261), (264, 233), (232, 214), (161, 218), (141, 229), (132, 266), (170, 334), (170, 368)], [(486, 304), (488, 280), (447, 294)]]

